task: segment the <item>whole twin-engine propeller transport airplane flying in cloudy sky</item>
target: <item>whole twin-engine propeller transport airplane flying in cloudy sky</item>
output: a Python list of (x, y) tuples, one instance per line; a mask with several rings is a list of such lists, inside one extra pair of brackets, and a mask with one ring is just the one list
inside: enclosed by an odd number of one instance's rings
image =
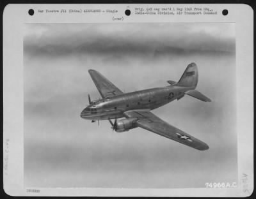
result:
[[(170, 85), (165, 87), (128, 93), (120, 91), (99, 72), (89, 70), (89, 73), (102, 99), (91, 101), (88, 95), (90, 105), (81, 112), (83, 119), (92, 120), (92, 122), (108, 119), (116, 132), (140, 127), (201, 151), (209, 149), (204, 142), (164, 122), (150, 112), (175, 99), (183, 98), (185, 94), (202, 101), (211, 101), (195, 90), (198, 82), (198, 70), (195, 63), (188, 65), (179, 82), (169, 80), (167, 82)], [(117, 121), (116, 119), (120, 117), (125, 117), (125, 119)], [(111, 119), (115, 119), (115, 122)]]

